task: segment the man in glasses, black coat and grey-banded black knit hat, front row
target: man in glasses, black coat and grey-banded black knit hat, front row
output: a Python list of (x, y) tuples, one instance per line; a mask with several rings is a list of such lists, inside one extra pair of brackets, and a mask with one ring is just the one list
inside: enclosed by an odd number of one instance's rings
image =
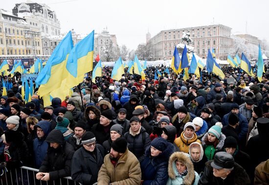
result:
[(92, 132), (86, 132), (81, 139), (83, 147), (73, 156), (71, 163), (71, 177), (83, 185), (92, 185), (97, 182), (98, 171), (104, 162), (104, 148), (96, 144)]

